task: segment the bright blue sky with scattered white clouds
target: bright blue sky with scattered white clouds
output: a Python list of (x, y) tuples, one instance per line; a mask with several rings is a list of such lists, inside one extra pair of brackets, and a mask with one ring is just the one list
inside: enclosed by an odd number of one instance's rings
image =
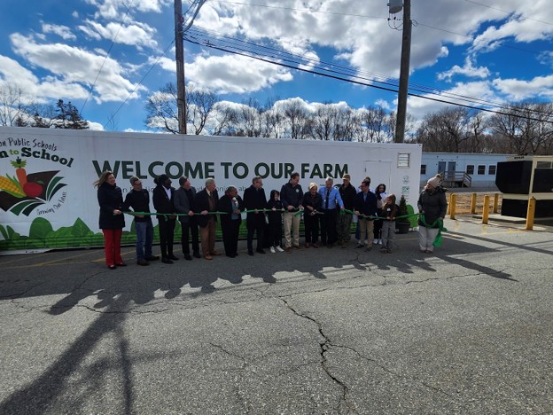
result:
[[(548, 3), (413, 1), (411, 85), (485, 99), (491, 107), (550, 101), (553, 8)], [(386, 4), (209, 0), (193, 28), (397, 79), (401, 30), (390, 27)], [(183, 0), (183, 10), (190, 5)], [(93, 129), (143, 131), (147, 96), (175, 81), (173, 16), (172, 0), (2, 0), (0, 88), (17, 84), (36, 103), (71, 101)], [(394, 16), (401, 19), (401, 13)], [(184, 48), (186, 82), (212, 89), (222, 100), (256, 98), (263, 104), (267, 98), (301, 98), (308, 104), (396, 107), (393, 92), (192, 43)], [(409, 98), (408, 111), (421, 119), (442, 106)]]

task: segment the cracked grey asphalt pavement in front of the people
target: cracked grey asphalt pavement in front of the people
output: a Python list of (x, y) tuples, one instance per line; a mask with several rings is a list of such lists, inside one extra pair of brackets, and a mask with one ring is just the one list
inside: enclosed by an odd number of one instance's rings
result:
[(551, 228), (445, 224), (434, 254), (0, 256), (0, 413), (553, 413)]

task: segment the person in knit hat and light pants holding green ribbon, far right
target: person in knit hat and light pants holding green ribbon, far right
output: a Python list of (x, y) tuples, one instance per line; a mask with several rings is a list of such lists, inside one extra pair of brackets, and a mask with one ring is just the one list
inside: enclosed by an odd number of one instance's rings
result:
[(448, 210), (446, 192), (441, 186), (441, 177), (436, 175), (428, 180), (423, 192), (418, 197), (418, 245), (421, 252), (432, 254), (434, 247), (441, 245), (441, 230), (443, 219)]

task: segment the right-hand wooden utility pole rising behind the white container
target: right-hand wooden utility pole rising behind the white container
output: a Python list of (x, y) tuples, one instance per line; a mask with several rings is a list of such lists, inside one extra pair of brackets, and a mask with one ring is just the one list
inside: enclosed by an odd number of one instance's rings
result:
[(409, 89), (409, 60), (411, 57), (411, 0), (403, 0), (403, 37), (401, 41), (400, 90), (395, 121), (394, 143), (403, 143), (407, 118), (407, 95)]

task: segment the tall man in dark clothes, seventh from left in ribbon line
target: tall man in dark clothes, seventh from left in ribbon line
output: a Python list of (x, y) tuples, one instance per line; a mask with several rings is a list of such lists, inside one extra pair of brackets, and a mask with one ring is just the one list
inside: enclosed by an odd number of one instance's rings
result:
[(265, 235), (265, 212), (267, 206), (267, 196), (263, 189), (263, 180), (261, 176), (255, 176), (252, 179), (252, 185), (245, 189), (244, 206), (248, 212), (245, 225), (247, 227), (247, 247), (248, 254), (253, 256), (253, 233), (257, 233), (257, 248), (255, 251), (259, 254), (265, 254), (263, 250), (263, 236)]

